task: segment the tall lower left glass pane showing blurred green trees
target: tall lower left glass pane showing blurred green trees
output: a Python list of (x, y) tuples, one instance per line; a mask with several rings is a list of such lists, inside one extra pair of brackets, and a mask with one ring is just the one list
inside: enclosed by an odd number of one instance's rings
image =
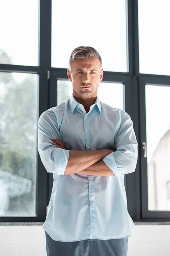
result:
[(37, 84), (0, 73), (0, 216), (36, 216)]

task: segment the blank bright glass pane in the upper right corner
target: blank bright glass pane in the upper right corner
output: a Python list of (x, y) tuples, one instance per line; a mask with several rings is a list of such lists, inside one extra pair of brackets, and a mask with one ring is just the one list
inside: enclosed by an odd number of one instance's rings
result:
[(170, 75), (170, 1), (138, 0), (140, 73)]

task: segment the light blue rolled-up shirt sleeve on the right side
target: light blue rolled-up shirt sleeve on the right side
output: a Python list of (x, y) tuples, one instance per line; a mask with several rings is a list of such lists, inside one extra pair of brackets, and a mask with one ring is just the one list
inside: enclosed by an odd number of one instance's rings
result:
[(116, 151), (108, 154), (102, 160), (112, 170), (115, 176), (134, 172), (138, 159), (138, 143), (130, 116), (121, 110), (121, 122), (115, 140)]

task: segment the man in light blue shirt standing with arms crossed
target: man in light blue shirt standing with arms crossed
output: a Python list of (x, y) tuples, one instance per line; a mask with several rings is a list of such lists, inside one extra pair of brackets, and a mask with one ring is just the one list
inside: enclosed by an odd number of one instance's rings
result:
[(137, 163), (133, 122), (99, 101), (103, 69), (96, 49), (75, 48), (67, 74), (71, 98), (38, 122), (38, 151), (54, 177), (43, 224), (47, 255), (127, 256), (134, 223), (123, 175)]

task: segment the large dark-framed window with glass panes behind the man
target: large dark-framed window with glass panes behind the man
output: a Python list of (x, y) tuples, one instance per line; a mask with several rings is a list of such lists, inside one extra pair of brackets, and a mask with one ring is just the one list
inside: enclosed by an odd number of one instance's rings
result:
[(169, 1), (0, 6), (0, 221), (45, 221), (53, 174), (37, 151), (37, 120), (71, 96), (68, 61), (79, 46), (102, 57), (99, 99), (133, 121), (139, 158), (125, 175), (131, 218), (170, 221)]

